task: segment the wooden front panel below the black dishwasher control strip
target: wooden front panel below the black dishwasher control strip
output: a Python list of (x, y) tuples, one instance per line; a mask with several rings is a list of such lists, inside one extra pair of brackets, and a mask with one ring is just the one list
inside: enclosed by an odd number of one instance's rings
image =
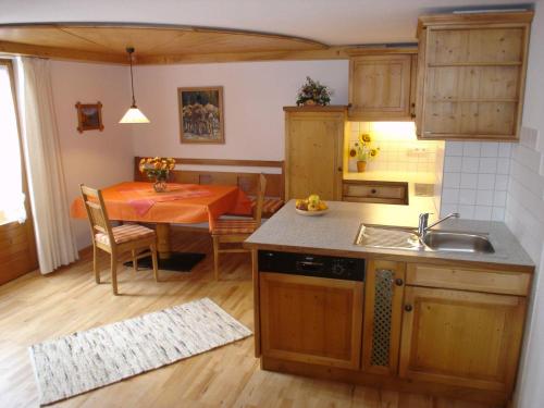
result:
[(363, 283), (260, 273), (261, 353), (358, 369)]

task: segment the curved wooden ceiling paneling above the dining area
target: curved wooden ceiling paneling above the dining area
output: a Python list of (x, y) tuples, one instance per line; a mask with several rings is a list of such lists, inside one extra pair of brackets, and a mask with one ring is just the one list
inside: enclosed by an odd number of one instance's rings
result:
[(4, 53), (127, 63), (126, 47), (136, 49), (136, 64), (339, 55), (318, 41), (252, 32), (147, 25), (0, 25), (0, 52)]

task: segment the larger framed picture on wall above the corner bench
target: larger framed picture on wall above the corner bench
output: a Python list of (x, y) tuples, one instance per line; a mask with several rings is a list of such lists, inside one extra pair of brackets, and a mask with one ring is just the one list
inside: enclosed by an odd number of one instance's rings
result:
[(224, 144), (223, 87), (177, 88), (182, 144)]

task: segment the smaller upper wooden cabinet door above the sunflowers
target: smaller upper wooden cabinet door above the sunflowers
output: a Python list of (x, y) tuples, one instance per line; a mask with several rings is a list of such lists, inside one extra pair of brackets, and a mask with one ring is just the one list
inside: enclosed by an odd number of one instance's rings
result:
[(409, 54), (351, 58), (349, 119), (410, 121), (411, 59)]

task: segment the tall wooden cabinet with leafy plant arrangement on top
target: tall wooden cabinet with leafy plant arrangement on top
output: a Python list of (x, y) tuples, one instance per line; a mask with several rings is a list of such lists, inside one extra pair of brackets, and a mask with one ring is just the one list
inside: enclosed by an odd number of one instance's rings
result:
[(345, 107), (286, 107), (285, 196), (342, 199)]

